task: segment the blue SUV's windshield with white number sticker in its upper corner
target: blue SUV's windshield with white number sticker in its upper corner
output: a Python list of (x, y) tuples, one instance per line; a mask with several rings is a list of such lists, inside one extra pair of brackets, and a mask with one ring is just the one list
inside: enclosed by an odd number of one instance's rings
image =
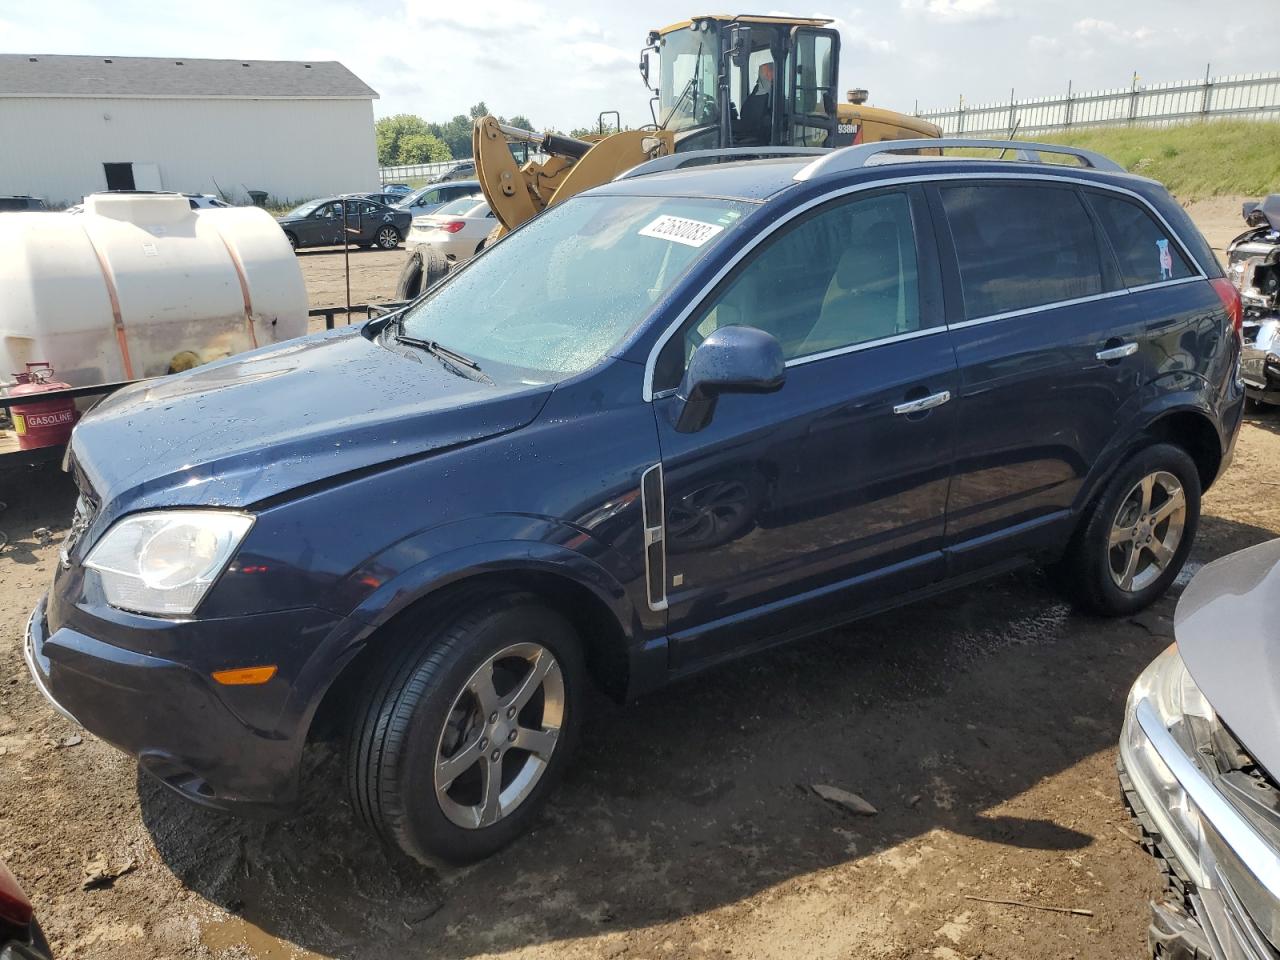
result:
[(472, 357), (494, 379), (561, 380), (599, 362), (750, 209), (731, 200), (575, 197), (410, 307), (404, 333)]

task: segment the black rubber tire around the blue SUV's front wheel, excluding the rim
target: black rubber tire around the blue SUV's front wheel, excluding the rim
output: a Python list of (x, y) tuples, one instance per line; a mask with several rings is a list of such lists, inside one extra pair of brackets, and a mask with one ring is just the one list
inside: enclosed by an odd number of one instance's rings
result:
[[(347, 774), (352, 804), (385, 842), (419, 861), (474, 863), (507, 846), (535, 823), (573, 753), (584, 695), (581, 645), (568, 621), (527, 594), (471, 594), (448, 611), (421, 607), (390, 630), (393, 634), (384, 637), (384, 649), (397, 649), (401, 654), (392, 658), (383, 672), (370, 677), (349, 731)], [(457, 709), (472, 696), (468, 682), (474, 675), (488, 669), (492, 658), (517, 644), (540, 646), (552, 654), (552, 663), (558, 667), (563, 710), (558, 733), (553, 736), (549, 759), (531, 788), (515, 800), (512, 809), (499, 812), (498, 819), (488, 826), (458, 826), (442, 805), (452, 803), (448, 791), (454, 787), (444, 791), (444, 800), (436, 794), (438, 754), (444, 751), (447, 737), (454, 733), (461, 745), (443, 760), (479, 748), (477, 759), (472, 762), (476, 765), (453, 781), (462, 783), (468, 773), (479, 776), (480, 767), (494, 769), (486, 759), (490, 744), (481, 736), (492, 733), (492, 745), (497, 746), (507, 739), (499, 736), (499, 728), (511, 731), (513, 739), (515, 731), (527, 723), (521, 707), (506, 714), (515, 721), (502, 719), (498, 726), (488, 724), (483, 716), (476, 726), (466, 716), (460, 717)], [(492, 673), (495, 691), (499, 690), (498, 671), (507, 660), (498, 663)], [(552, 673), (548, 689), (550, 680)], [(520, 686), (518, 680), (515, 686)], [(498, 692), (499, 699), (509, 695), (511, 690)], [(548, 709), (547, 701), (539, 700), (543, 696), (547, 694), (539, 686), (526, 707), (538, 712)], [(502, 754), (497, 764), (499, 785), (506, 782), (506, 774), (522, 773), (524, 764), (535, 759), (518, 746), (503, 745), (503, 750), (511, 750), (512, 759)], [(508, 786), (512, 785), (515, 778)], [(483, 792), (483, 787), (480, 790)], [(499, 790), (506, 791), (507, 786)]]

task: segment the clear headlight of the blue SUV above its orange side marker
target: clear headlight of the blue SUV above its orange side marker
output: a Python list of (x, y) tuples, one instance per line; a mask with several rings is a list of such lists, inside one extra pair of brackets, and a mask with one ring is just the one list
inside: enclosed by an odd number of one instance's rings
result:
[(215, 509), (138, 513), (115, 524), (84, 566), (106, 602), (137, 613), (186, 616), (223, 572), (253, 517)]

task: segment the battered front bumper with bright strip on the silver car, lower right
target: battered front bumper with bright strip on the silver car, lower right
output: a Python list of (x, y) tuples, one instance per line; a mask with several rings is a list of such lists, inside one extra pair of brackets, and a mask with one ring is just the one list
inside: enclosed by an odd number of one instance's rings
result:
[[(1280, 951), (1254, 920), (1254, 915), (1267, 915), (1267, 922), (1275, 923), (1280, 851), (1188, 756), (1146, 699), (1130, 704), (1117, 767), (1144, 846), (1167, 878), (1165, 897), (1152, 904), (1151, 955), (1171, 960), (1280, 960)], [(1170, 809), (1170, 785), (1180, 787), (1183, 822), (1198, 824), (1193, 838)]]

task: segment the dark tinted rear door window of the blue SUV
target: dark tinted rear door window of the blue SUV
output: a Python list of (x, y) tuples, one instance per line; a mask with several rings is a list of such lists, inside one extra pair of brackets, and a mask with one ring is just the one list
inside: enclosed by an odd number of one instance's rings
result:
[(1102, 293), (1098, 234), (1070, 187), (942, 187), (965, 320)]

